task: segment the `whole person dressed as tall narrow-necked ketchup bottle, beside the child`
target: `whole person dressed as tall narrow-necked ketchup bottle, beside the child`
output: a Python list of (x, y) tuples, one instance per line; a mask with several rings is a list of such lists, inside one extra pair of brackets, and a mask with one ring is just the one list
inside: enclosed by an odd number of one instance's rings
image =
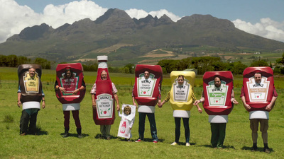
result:
[(109, 78), (107, 69), (107, 56), (98, 56), (99, 62), (97, 80), (92, 87), (92, 107), (94, 123), (100, 125), (102, 139), (111, 139), (111, 124), (114, 124), (115, 107), (119, 111), (119, 98), (114, 83)]

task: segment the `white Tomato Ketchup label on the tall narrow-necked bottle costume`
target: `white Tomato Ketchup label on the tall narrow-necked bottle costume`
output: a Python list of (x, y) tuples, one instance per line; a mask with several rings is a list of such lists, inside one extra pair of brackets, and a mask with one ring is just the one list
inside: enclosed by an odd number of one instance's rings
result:
[(114, 111), (114, 99), (112, 95), (106, 93), (97, 95), (96, 104), (99, 119), (112, 118), (112, 112)]

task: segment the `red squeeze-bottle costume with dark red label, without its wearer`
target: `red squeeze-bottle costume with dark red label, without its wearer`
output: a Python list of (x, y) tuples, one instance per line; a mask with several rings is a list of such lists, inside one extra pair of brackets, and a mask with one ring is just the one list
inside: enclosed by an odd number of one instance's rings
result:
[[(71, 78), (65, 78), (66, 69), (70, 69), (72, 72)], [(80, 102), (84, 99), (86, 90), (79, 91), (77, 95), (72, 95), (72, 93), (82, 86), (83, 80), (83, 67), (80, 63), (58, 64), (56, 67), (58, 86), (67, 91), (62, 93), (60, 90), (55, 90), (56, 97), (62, 103), (63, 111), (80, 110)]]

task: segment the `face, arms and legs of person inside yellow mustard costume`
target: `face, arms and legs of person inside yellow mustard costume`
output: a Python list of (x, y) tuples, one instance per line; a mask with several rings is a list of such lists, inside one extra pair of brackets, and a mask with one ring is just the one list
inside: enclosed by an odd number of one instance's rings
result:
[[(185, 81), (185, 76), (183, 75), (179, 75), (178, 76), (178, 87), (182, 87), (184, 85), (184, 81)], [(159, 107), (162, 107), (165, 102), (168, 102), (168, 100), (170, 100), (170, 91), (168, 92), (167, 97), (165, 98), (165, 100), (163, 100), (163, 102), (161, 102), (161, 105), (159, 105)], [(192, 99), (193, 102), (196, 100), (195, 98), (195, 94), (193, 93), (192, 90)], [(198, 112), (202, 113), (202, 109), (200, 108), (199, 105), (196, 105)], [(190, 118), (189, 117), (175, 117), (175, 141), (173, 143), (171, 143), (172, 146), (175, 146), (179, 143), (180, 140), (180, 119), (182, 118), (183, 121), (183, 126), (185, 127), (185, 146), (190, 146)]]

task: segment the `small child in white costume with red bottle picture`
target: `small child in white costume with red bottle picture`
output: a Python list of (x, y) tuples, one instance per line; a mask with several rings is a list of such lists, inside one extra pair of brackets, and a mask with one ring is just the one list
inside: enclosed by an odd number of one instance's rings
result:
[(131, 129), (134, 124), (135, 112), (135, 105), (122, 105), (122, 114), (118, 111), (119, 117), (121, 117), (121, 122), (119, 124), (119, 132), (117, 136), (125, 138), (127, 141), (130, 141), (132, 137)]

